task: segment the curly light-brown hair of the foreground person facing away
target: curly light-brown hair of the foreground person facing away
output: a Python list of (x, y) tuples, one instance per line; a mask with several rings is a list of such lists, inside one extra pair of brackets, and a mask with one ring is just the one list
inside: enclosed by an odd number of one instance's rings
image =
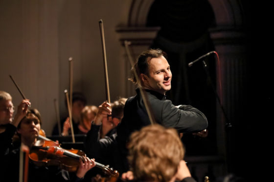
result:
[(135, 178), (140, 181), (170, 181), (184, 156), (178, 132), (159, 124), (134, 132), (128, 149), (129, 164)]

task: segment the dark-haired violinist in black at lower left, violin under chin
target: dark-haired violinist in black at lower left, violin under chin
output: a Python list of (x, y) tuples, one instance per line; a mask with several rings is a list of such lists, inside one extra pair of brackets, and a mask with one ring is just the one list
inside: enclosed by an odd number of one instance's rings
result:
[[(23, 108), (19, 109), (23, 110)], [(33, 110), (27, 110), (25, 117), (18, 124), (16, 134), (19, 141), (10, 143), (9, 153), (4, 155), (4, 160), (1, 163), (1, 167), (3, 167), (0, 171), (2, 173), (1, 178), (12, 182), (18, 181), (20, 143), (22, 142), (31, 150), (37, 142), (41, 129), (40, 120), (36, 113)], [(1, 138), (1, 140), (8, 139)], [(31, 160), (28, 164), (28, 182), (78, 182), (83, 179), (88, 170), (95, 166), (94, 160), (90, 160), (88, 157), (83, 157), (83, 161), (79, 160), (76, 173), (69, 173), (58, 165), (38, 166)]]

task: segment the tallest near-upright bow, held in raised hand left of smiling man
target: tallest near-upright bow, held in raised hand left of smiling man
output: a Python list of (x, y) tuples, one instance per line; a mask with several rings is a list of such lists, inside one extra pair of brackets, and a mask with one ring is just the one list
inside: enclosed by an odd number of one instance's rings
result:
[(104, 58), (106, 98), (107, 98), (107, 101), (111, 103), (103, 20), (99, 20), (99, 27), (100, 27), (100, 33), (101, 33), (103, 58)]

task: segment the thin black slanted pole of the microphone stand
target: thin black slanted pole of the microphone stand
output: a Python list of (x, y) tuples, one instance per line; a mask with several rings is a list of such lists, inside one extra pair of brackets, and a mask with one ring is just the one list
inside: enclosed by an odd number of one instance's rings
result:
[(222, 110), (222, 112), (223, 112), (223, 115), (224, 115), (224, 117), (225, 117), (225, 120), (226, 120), (226, 143), (227, 143), (227, 149), (226, 149), (226, 151), (227, 151), (227, 165), (228, 165), (228, 172), (230, 172), (230, 164), (228, 164), (229, 162), (228, 161), (230, 161), (229, 160), (229, 157), (228, 157), (228, 155), (229, 155), (229, 150), (228, 150), (228, 148), (229, 148), (229, 142), (228, 142), (228, 139), (229, 139), (229, 137), (228, 137), (228, 132), (229, 132), (229, 129), (231, 129), (231, 127), (232, 127), (232, 125), (231, 125), (231, 123), (230, 123), (230, 121), (228, 120), (228, 116), (227, 116), (227, 114), (226, 114), (226, 112), (225, 112), (225, 110), (224, 110), (224, 107), (223, 107), (223, 105), (222, 105), (222, 103), (221, 103), (221, 100), (220, 100), (220, 98), (219, 98), (219, 96), (218, 96), (218, 94), (217, 94), (217, 92), (216, 92), (216, 89), (215, 89), (215, 87), (214, 87), (214, 85), (213, 85), (213, 83), (212, 83), (212, 81), (211, 81), (211, 78), (210, 78), (210, 75), (209, 75), (209, 71), (208, 71), (208, 68), (207, 68), (207, 65), (206, 65), (206, 61), (202, 61), (203, 62), (203, 67), (204, 67), (204, 69), (205, 69), (205, 71), (206, 71), (206, 76), (207, 76), (207, 78), (209, 79), (209, 82), (210, 82), (210, 85), (211, 85), (211, 87), (212, 87), (212, 90), (214, 91), (214, 93), (215, 93), (215, 96), (216, 96), (216, 98), (217, 98), (217, 101), (218, 101), (218, 103), (219, 103), (219, 105), (220, 105), (220, 108), (221, 108), (221, 110)]

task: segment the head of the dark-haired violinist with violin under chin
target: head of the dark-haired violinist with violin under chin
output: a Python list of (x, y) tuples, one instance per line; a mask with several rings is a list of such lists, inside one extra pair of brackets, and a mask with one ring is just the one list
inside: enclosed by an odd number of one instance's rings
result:
[(37, 109), (30, 109), (17, 126), (17, 133), (23, 141), (34, 141), (41, 129), (41, 116)]

